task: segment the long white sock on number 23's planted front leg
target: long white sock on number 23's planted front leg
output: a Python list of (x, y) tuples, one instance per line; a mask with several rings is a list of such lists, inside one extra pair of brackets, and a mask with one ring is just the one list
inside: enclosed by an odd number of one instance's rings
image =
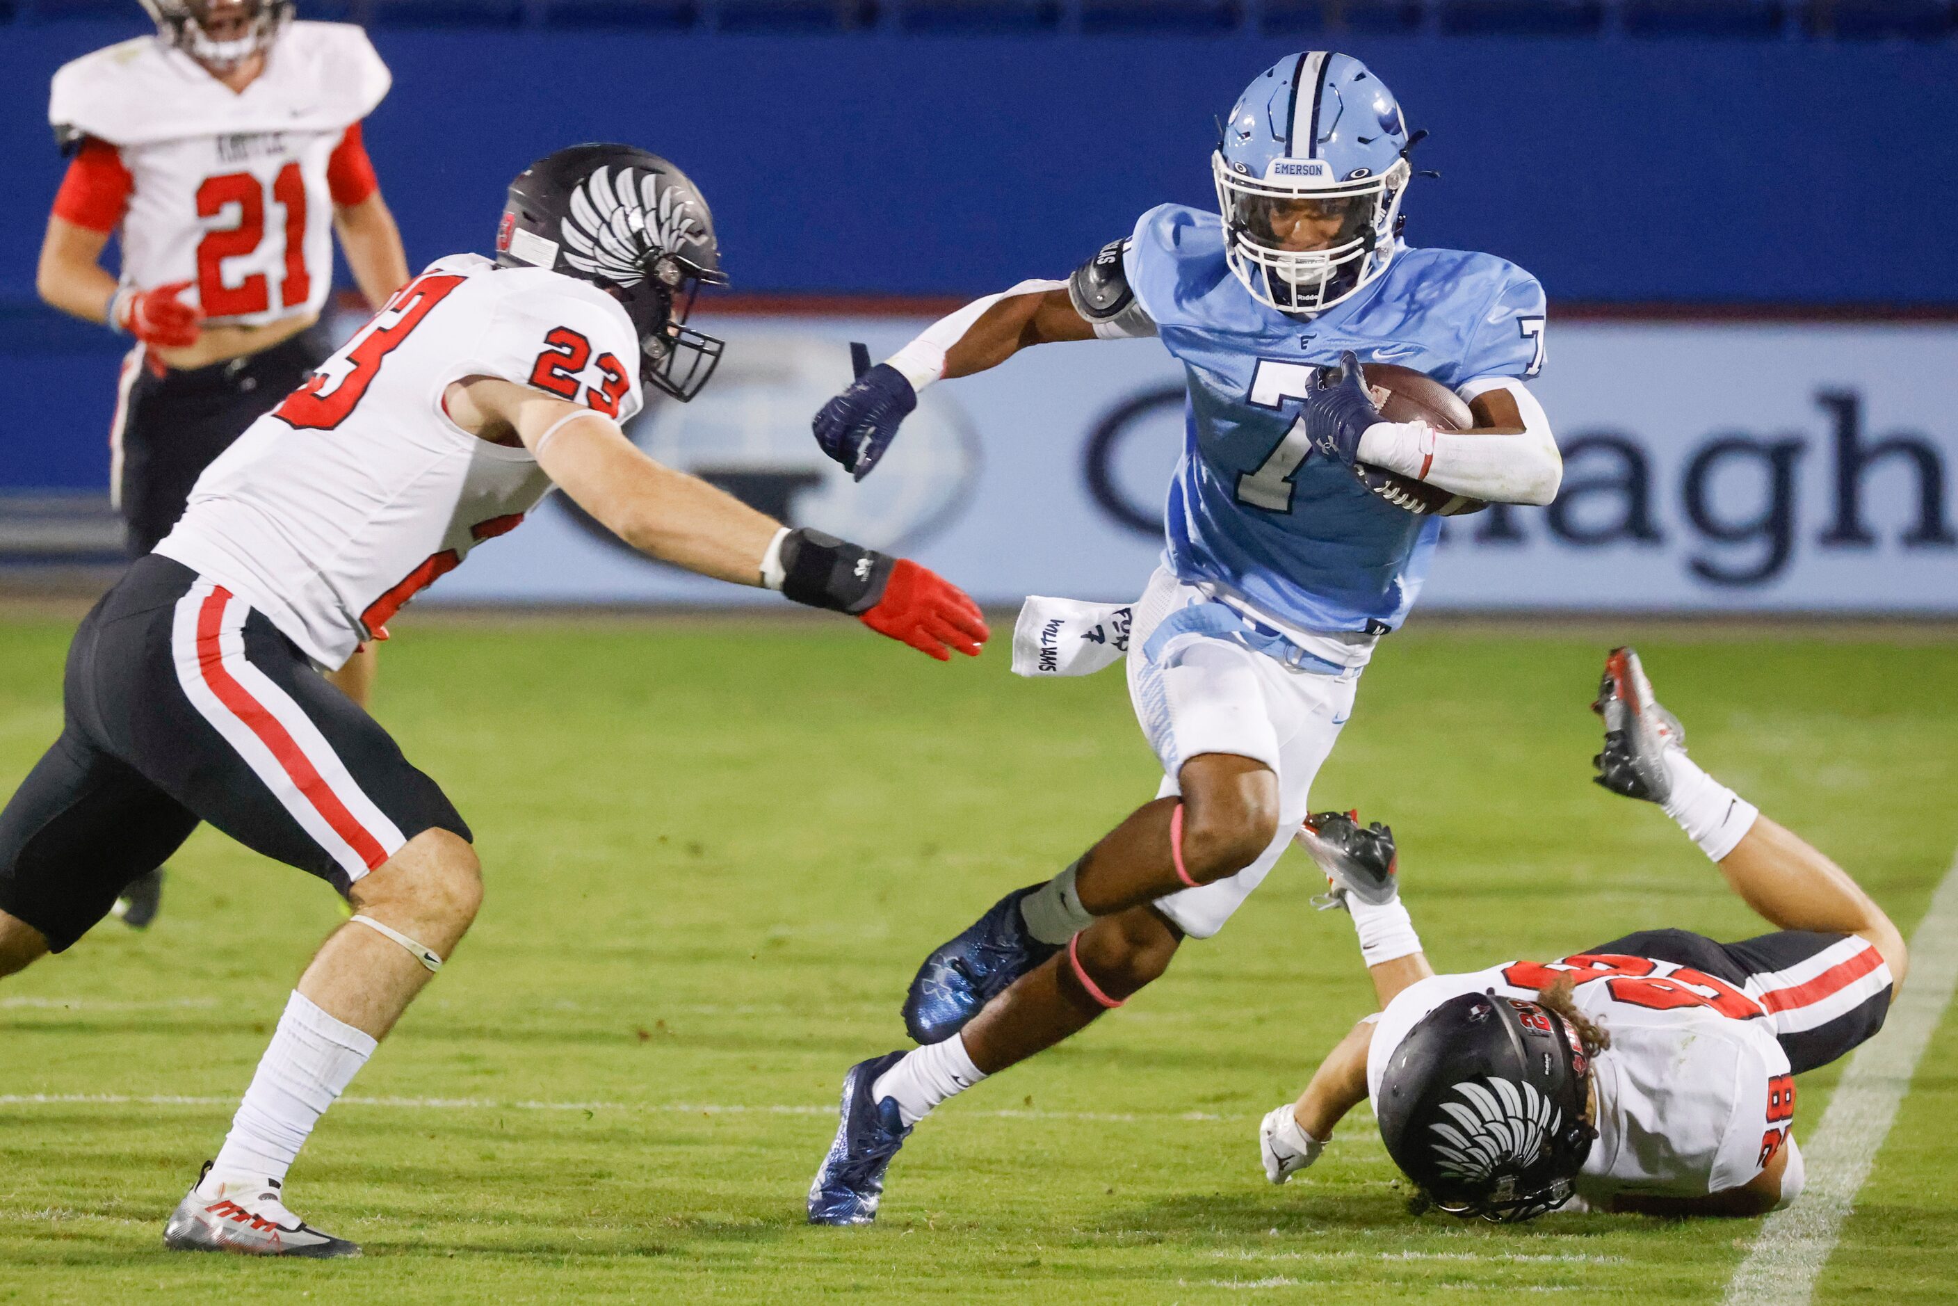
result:
[(313, 1124), (372, 1055), (372, 1038), (294, 993), (206, 1183), (284, 1183)]

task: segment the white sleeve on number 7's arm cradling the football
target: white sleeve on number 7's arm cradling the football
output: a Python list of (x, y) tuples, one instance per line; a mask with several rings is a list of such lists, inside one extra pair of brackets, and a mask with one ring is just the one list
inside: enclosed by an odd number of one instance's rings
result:
[(1515, 399), (1523, 417), (1521, 435), (1467, 435), (1435, 431), (1423, 421), (1378, 421), (1359, 441), (1361, 462), (1492, 503), (1549, 503), (1564, 478), (1549, 415), (1523, 382), (1510, 376), (1474, 380), (1457, 394), (1470, 401), (1490, 390), (1508, 390)]

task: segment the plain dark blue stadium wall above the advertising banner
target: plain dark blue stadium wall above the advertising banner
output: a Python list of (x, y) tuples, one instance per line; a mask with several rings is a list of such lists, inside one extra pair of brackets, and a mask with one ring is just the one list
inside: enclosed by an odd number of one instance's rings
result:
[[(131, 6), (133, 8), (133, 6)], [(100, 486), (116, 341), (33, 303), (61, 174), (47, 76), (137, 23), (0, 43), (0, 484)], [(744, 292), (971, 294), (1210, 204), (1249, 35), (376, 31), (368, 141), (409, 260), (484, 249), (576, 139), (670, 155)], [(1958, 305), (1958, 45), (1351, 37), (1433, 137), (1410, 239), (1515, 258), (1553, 303)], [(345, 280), (345, 270), (341, 272)]]

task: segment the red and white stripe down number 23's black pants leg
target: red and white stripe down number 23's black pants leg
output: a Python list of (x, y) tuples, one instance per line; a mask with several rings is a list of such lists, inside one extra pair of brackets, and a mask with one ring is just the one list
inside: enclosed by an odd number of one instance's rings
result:
[(272, 797), (327, 854), (360, 879), (407, 842), (362, 793), (319, 726), (245, 660), (251, 605), (200, 580), (176, 601), (170, 652), (184, 695), (237, 750)]

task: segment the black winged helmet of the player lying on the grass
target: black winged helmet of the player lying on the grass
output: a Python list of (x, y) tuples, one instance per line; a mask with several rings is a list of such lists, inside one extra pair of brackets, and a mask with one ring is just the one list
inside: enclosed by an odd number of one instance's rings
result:
[(1598, 1130), (1590, 1057), (1557, 1012), (1465, 993), (1394, 1048), (1375, 1114), (1388, 1155), (1451, 1216), (1533, 1220), (1570, 1200)]

